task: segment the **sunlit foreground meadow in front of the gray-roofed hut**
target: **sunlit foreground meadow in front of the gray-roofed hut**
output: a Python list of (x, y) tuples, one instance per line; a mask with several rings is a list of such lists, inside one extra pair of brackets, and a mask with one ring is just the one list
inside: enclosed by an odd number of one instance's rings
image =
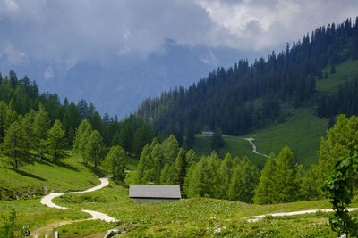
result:
[[(329, 209), (331, 205), (328, 201), (253, 205), (239, 201), (194, 198), (165, 204), (135, 204), (128, 198), (126, 188), (113, 183), (90, 194), (95, 198), (93, 201), (88, 201), (84, 194), (67, 194), (56, 198), (55, 203), (72, 209), (98, 210), (120, 221), (112, 224), (85, 221), (60, 226), (56, 229), (60, 235), (101, 237), (107, 229), (140, 224), (141, 227), (117, 237), (336, 237), (328, 225), (330, 215), (321, 212), (294, 217), (268, 217), (258, 223), (246, 220), (247, 217), (271, 212)], [(358, 204), (354, 201), (353, 205)], [(354, 217), (358, 215), (356, 212), (353, 214)]]

